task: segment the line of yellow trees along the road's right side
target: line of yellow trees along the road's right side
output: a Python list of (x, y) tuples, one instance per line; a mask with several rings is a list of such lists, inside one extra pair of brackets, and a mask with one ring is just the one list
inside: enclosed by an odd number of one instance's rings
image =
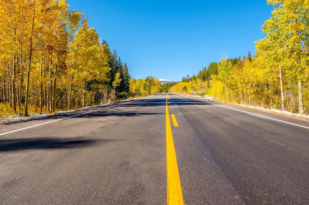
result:
[(309, 113), (309, 1), (268, 0), (272, 17), (262, 26), (256, 56), (224, 57), (172, 91), (204, 91), (216, 100), (300, 115)]

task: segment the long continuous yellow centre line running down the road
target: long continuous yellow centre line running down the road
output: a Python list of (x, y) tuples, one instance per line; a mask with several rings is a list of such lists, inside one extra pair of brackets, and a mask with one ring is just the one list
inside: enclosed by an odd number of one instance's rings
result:
[(171, 122), (168, 112), (168, 96), (166, 95), (165, 118), (166, 118), (166, 177), (167, 205), (184, 205), (180, 177), (177, 166), (176, 151), (173, 142)]

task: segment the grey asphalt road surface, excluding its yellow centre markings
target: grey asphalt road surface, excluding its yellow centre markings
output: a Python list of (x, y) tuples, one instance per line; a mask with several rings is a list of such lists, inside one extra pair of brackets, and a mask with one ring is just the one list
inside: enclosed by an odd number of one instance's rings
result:
[(160, 94), (0, 126), (0, 205), (167, 204), (166, 106), (185, 205), (309, 204), (308, 120)]

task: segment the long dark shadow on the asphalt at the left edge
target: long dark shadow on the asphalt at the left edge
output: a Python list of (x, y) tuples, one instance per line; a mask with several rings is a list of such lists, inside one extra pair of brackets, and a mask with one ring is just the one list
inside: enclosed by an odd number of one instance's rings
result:
[[(101, 141), (101, 140), (100, 140)], [(110, 142), (113, 140), (105, 140)], [(82, 139), (55, 139), (55, 138), (36, 138), (36, 139), (16, 139), (16, 140), (0, 140), (0, 152), (20, 151), (28, 149), (62, 149), (62, 148), (80, 148), (91, 146), (98, 140), (82, 140)]]

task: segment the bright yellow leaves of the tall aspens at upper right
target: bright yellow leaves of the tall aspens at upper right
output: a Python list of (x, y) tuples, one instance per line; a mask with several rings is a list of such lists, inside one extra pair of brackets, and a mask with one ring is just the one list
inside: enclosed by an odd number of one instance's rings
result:
[[(273, 16), (263, 26), (266, 37), (257, 42), (258, 60), (273, 73), (282, 65), (287, 77), (303, 76), (309, 44), (309, 0), (269, 0)], [(296, 64), (300, 64), (296, 66)]]

